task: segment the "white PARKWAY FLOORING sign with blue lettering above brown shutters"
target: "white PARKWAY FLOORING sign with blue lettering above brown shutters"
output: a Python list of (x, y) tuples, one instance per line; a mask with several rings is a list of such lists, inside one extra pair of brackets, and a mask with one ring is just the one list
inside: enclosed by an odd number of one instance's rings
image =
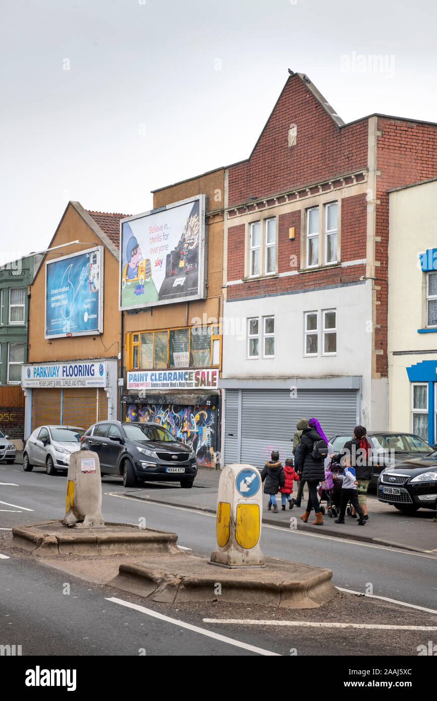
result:
[(105, 362), (23, 365), (22, 387), (106, 387)]

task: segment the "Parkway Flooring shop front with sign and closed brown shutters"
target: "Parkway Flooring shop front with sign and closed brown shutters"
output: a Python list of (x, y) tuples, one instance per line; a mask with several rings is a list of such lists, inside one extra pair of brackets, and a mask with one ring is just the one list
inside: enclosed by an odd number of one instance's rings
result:
[(25, 438), (45, 423), (89, 428), (116, 418), (116, 378), (116, 360), (23, 365)]

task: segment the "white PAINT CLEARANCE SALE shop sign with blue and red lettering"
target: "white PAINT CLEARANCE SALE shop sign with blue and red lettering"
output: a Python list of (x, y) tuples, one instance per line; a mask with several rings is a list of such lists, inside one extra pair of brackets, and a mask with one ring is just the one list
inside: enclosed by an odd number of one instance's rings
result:
[(128, 390), (196, 390), (217, 389), (218, 369), (202, 370), (134, 370), (128, 372)]

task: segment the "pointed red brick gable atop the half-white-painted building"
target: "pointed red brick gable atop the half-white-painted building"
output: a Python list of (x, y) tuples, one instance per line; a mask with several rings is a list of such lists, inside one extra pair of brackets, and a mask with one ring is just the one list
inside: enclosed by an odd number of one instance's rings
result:
[[(288, 147), (290, 124), (297, 142)], [(368, 119), (338, 126), (300, 76), (290, 76), (247, 161), (229, 168), (229, 205), (344, 175), (368, 162)]]

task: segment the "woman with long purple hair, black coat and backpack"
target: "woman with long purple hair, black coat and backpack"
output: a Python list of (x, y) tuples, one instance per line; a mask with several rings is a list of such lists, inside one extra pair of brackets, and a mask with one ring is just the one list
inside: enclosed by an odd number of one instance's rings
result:
[(325, 479), (324, 461), (328, 455), (328, 439), (316, 418), (310, 418), (308, 428), (302, 431), (300, 439), (299, 464), (302, 470), (302, 480), (308, 485), (307, 509), (300, 517), (307, 523), (311, 509), (316, 513), (314, 526), (323, 525), (322, 512), (317, 495), (317, 485)]

